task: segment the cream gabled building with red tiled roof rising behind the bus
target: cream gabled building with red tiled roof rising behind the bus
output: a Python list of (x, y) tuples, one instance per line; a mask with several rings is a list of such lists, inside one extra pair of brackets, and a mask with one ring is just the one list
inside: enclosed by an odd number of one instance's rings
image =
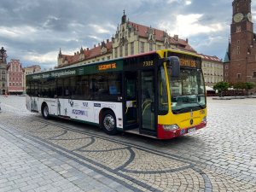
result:
[(195, 52), (195, 49), (189, 45), (188, 39), (183, 40), (177, 35), (171, 37), (165, 31), (131, 22), (126, 19), (124, 12), (121, 24), (111, 40), (107, 39), (106, 42), (103, 41), (92, 49), (81, 48), (74, 55), (63, 55), (60, 49), (57, 67), (106, 61), (157, 49), (181, 49)]

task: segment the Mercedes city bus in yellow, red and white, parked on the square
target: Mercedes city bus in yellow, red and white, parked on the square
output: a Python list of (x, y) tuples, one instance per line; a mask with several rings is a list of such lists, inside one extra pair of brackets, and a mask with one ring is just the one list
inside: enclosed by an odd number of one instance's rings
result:
[(130, 132), (172, 139), (207, 125), (201, 57), (162, 49), (26, 75), (26, 108)]

